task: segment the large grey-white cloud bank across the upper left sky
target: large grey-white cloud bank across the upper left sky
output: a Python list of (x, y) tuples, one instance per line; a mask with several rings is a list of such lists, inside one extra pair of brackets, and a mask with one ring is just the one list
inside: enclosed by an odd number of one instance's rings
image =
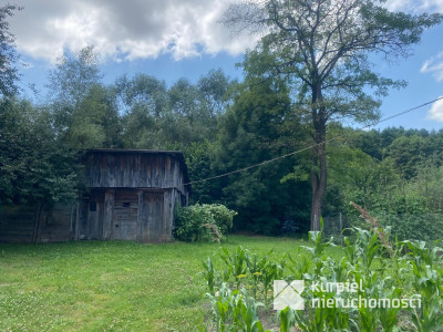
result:
[(115, 60), (176, 60), (253, 46), (217, 23), (231, 0), (23, 0), (11, 19), (20, 52), (54, 62), (63, 49), (94, 44)]

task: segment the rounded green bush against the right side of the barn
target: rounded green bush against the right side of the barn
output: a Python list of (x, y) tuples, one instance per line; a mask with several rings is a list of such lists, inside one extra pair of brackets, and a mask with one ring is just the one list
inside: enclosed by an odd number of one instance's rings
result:
[(183, 241), (219, 242), (233, 228), (236, 211), (222, 204), (196, 204), (178, 208), (175, 237)]

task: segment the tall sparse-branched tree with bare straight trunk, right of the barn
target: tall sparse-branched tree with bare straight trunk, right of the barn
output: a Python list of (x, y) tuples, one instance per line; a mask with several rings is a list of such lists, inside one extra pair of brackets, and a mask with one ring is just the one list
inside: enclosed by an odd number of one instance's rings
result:
[(274, 56), (269, 76), (287, 75), (298, 92), (298, 110), (309, 124), (316, 146), (310, 172), (311, 229), (321, 216), (327, 186), (326, 134), (330, 121), (358, 122), (379, 116), (379, 96), (402, 86), (373, 72), (368, 55), (390, 61), (411, 54), (425, 28), (441, 14), (391, 12), (383, 0), (247, 0), (233, 4), (223, 22), (233, 29), (266, 32), (254, 52)]

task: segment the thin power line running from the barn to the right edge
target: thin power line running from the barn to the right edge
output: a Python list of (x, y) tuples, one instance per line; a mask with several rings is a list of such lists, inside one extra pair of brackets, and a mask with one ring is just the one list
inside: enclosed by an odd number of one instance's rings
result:
[[(394, 114), (394, 115), (388, 116), (388, 117), (385, 117), (385, 118), (382, 118), (382, 120), (378, 121), (378, 122), (374, 123), (374, 124), (369, 124), (369, 125), (362, 126), (362, 127), (360, 127), (360, 128), (357, 128), (356, 131), (364, 131), (364, 129), (367, 129), (367, 128), (377, 126), (378, 124), (380, 124), (380, 123), (382, 123), (382, 122), (387, 122), (387, 121), (389, 121), (389, 120), (399, 117), (399, 116), (404, 115), (404, 114), (406, 114), (406, 113), (411, 113), (411, 112), (413, 112), (413, 111), (416, 111), (416, 110), (419, 110), (419, 108), (421, 108), (421, 107), (424, 107), (424, 106), (426, 106), (426, 105), (433, 104), (433, 103), (435, 103), (435, 102), (437, 102), (437, 101), (441, 101), (441, 100), (443, 100), (443, 96), (437, 97), (437, 98), (435, 98), (435, 100), (433, 100), (433, 101), (426, 102), (426, 103), (424, 103), (424, 104), (421, 104), (421, 105), (419, 105), (419, 106), (414, 106), (414, 107), (412, 107), (412, 108), (408, 108), (408, 110), (405, 110), (405, 111), (402, 111), (402, 112), (396, 113), (396, 114)], [(344, 137), (347, 137), (347, 136), (350, 136), (351, 134), (353, 134), (353, 133), (348, 133), (348, 134), (338, 135), (338, 136), (336, 136), (336, 137), (326, 139), (326, 141), (323, 141), (323, 142), (320, 142), (320, 143), (316, 143), (316, 144), (309, 145), (309, 146), (303, 147), (303, 148), (301, 148), (301, 149), (291, 152), (291, 153), (289, 153), (289, 154), (281, 155), (281, 156), (276, 157), (276, 158), (272, 158), (272, 159), (268, 159), (268, 160), (265, 160), (265, 162), (261, 162), (261, 163), (258, 163), (258, 164), (254, 164), (254, 165), (250, 165), (250, 166), (247, 166), (247, 167), (244, 167), (244, 168), (239, 168), (239, 169), (236, 169), (236, 170), (227, 172), (227, 173), (219, 174), (219, 175), (212, 176), (212, 177), (207, 177), (207, 178), (204, 178), (204, 179), (199, 179), (199, 180), (195, 180), (195, 181), (189, 181), (189, 183), (184, 184), (184, 185), (185, 185), (185, 186), (188, 186), (188, 185), (194, 185), (194, 184), (200, 184), (200, 183), (209, 181), (209, 180), (213, 180), (213, 179), (216, 179), (216, 178), (225, 177), (225, 176), (228, 176), (228, 175), (241, 173), (241, 172), (245, 172), (245, 170), (248, 170), (248, 169), (251, 169), (251, 168), (256, 168), (256, 167), (259, 167), (259, 166), (262, 166), (262, 165), (266, 165), (266, 164), (274, 163), (274, 162), (276, 162), (276, 160), (280, 160), (280, 159), (287, 158), (287, 157), (289, 157), (289, 156), (297, 155), (297, 154), (299, 154), (299, 153), (302, 153), (302, 152), (306, 152), (306, 151), (308, 151), (308, 149), (311, 149), (311, 148), (313, 148), (313, 147), (316, 147), (316, 146), (320, 146), (320, 145), (330, 143), (330, 142), (337, 141), (337, 139), (339, 139), (339, 138), (344, 138)]]

